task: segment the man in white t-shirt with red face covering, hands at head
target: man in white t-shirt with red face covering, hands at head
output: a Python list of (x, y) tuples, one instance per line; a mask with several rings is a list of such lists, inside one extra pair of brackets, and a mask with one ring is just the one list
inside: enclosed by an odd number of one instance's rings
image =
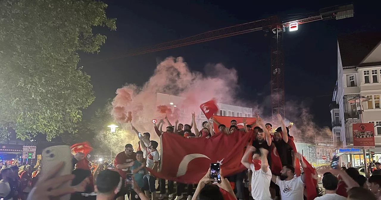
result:
[[(248, 162), (249, 154), (254, 152), (253, 163)], [(271, 170), (267, 162), (267, 155), (269, 151), (260, 148), (255, 149), (253, 146), (247, 146), (245, 154), (243, 154), (241, 163), (253, 171), (251, 175), (251, 196), (254, 200), (271, 200), (270, 195), (270, 181)]]

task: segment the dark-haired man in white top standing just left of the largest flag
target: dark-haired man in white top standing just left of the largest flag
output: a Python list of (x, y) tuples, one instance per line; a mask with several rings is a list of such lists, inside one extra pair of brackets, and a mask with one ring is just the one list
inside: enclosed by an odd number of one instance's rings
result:
[[(142, 151), (143, 153), (146, 152), (147, 155), (147, 162), (146, 167), (149, 169), (152, 169), (154, 171), (157, 171), (158, 163), (159, 163), (159, 152), (157, 151), (158, 143), (154, 140), (151, 140), (149, 142), (149, 147), (144, 147), (144, 144), (140, 143), (142, 145)], [(152, 194), (152, 200), (156, 199), (156, 177), (152, 176), (150, 173), (144, 175), (143, 178), (144, 181), (144, 190), (146, 190), (146, 195), (148, 197), (148, 190)]]

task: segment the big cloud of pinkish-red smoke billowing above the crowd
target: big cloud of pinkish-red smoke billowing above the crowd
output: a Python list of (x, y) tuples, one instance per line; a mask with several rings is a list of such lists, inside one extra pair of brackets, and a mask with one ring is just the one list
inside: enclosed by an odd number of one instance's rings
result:
[[(181, 57), (166, 58), (157, 65), (152, 77), (142, 87), (126, 84), (117, 90), (112, 102), (112, 115), (118, 122), (126, 124), (128, 112), (131, 112), (132, 123), (141, 132), (152, 132), (152, 119), (163, 118), (165, 114), (173, 125), (176, 119), (189, 124), (190, 113), (200, 113), (203, 102), (215, 98), (218, 102), (233, 104), (237, 80), (237, 71), (222, 64), (208, 64), (203, 74), (189, 70)], [(158, 106), (156, 93), (181, 96), (183, 101), (178, 102), (177, 107)], [(180, 118), (180, 110), (187, 110), (189, 117)]]

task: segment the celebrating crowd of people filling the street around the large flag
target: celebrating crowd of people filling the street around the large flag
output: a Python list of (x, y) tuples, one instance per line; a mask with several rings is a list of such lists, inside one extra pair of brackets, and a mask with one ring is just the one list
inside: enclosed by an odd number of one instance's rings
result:
[[(0, 181), (0, 199), (5, 200), (47, 200), (58, 199), (64, 194), (71, 194), (72, 200), (304, 200), (311, 198), (307, 192), (307, 182), (313, 181), (317, 189), (316, 171), (309, 171), (309, 163), (303, 155), (296, 152), (291, 143), (292, 126), (286, 127), (282, 117), (278, 116), (280, 127), (272, 133), (271, 123), (264, 123), (257, 116), (255, 123), (247, 124), (243, 118), (243, 128), (237, 126), (236, 120), (226, 126), (213, 117), (202, 123), (198, 128), (195, 114), (192, 114), (190, 124), (181, 124), (178, 120), (174, 126), (168, 118), (154, 123), (155, 133), (178, 134), (185, 138), (211, 138), (216, 134), (252, 134), (253, 140), (248, 141), (241, 163), (247, 170), (224, 177), (220, 171), (221, 182), (215, 182), (209, 171), (198, 184), (174, 182), (155, 177), (152, 172), (158, 170), (161, 162), (158, 141), (150, 140), (150, 133), (140, 133), (133, 125), (132, 130), (138, 135), (138, 149), (132, 144), (126, 144), (125, 149), (118, 153), (110, 163), (91, 163), (82, 152), (77, 152), (72, 158), (72, 174), (55, 177), (63, 163), (53, 168), (47, 176), (40, 178), (41, 164), (34, 167), (17, 165), (3, 166)], [(163, 126), (166, 125), (163, 131)], [(213, 129), (213, 123), (218, 130)], [(192, 131), (193, 130), (193, 131)], [(274, 156), (279, 157), (279, 170)], [(164, 158), (165, 159), (165, 158)], [(304, 172), (299, 173), (299, 162)], [(365, 177), (356, 168), (332, 169), (323, 174), (322, 184), (324, 195), (315, 195), (315, 200), (381, 200), (381, 164), (376, 163), (373, 175)], [(72, 182), (71, 187), (58, 187), (66, 181)], [(158, 187), (156, 187), (158, 182)], [(319, 197), (318, 197), (319, 196)]]

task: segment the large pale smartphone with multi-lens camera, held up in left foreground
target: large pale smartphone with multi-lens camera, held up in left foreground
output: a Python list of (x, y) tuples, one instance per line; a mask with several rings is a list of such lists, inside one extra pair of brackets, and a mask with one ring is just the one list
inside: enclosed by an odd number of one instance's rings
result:
[[(51, 146), (44, 150), (42, 150), (42, 160), (41, 160), (41, 171), (47, 172), (53, 170), (56, 165), (60, 162), (64, 162), (61, 170), (58, 173), (54, 174), (53, 177), (45, 177), (47, 173), (42, 173), (40, 179), (51, 179), (59, 176), (64, 176), (67, 174), (71, 174), (73, 171), (72, 157), (71, 157), (71, 149), (66, 145), (59, 146)], [(58, 186), (57, 188), (66, 188), (71, 186), (71, 181), (67, 181), (66, 183)], [(59, 200), (69, 200), (71, 194), (63, 195), (57, 199)]]

